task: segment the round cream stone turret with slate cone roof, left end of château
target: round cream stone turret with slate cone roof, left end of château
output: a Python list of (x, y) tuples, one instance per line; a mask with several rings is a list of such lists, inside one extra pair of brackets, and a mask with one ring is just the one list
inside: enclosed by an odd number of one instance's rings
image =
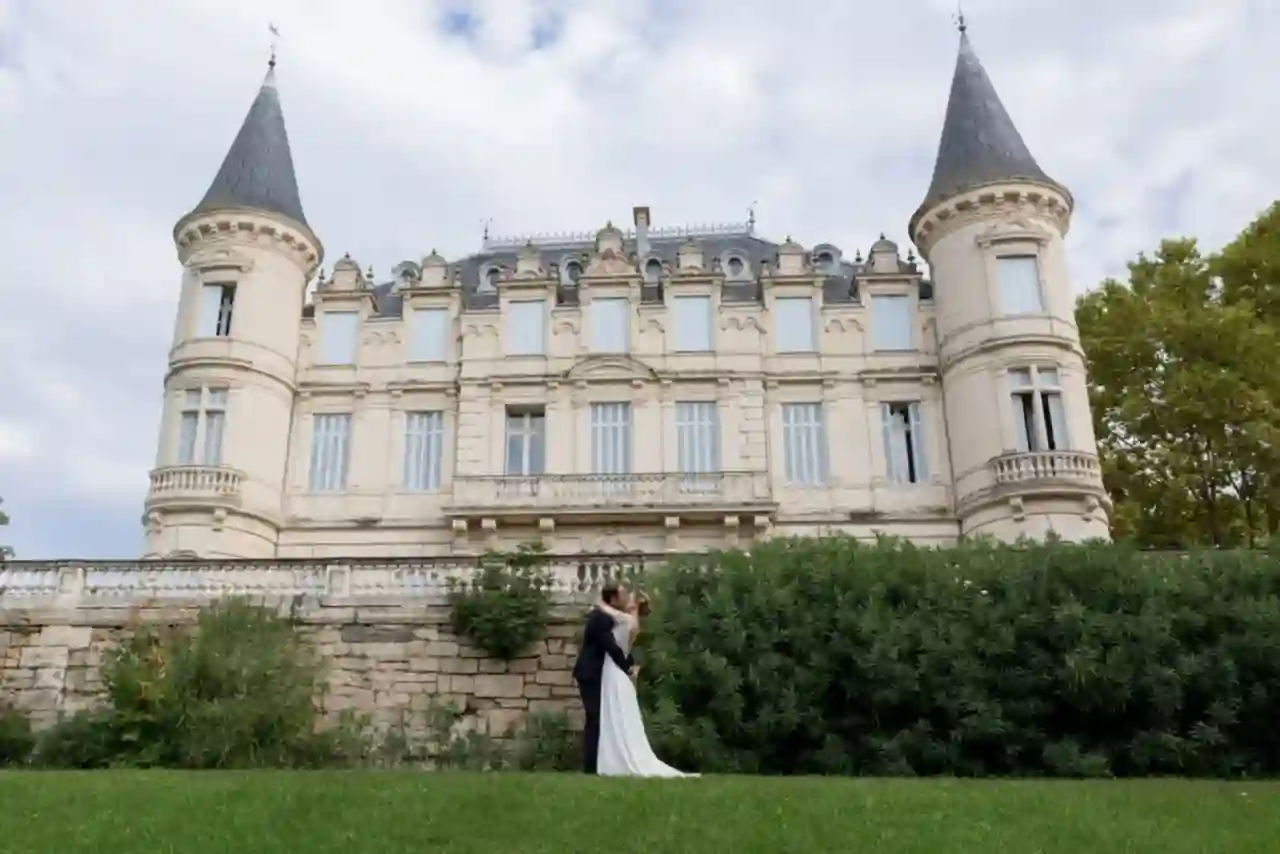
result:
[(178, 316), (145, 553), (270, 557), (284, 517), (307, 224), (275, 60), (209, 191), (173, 230)]

